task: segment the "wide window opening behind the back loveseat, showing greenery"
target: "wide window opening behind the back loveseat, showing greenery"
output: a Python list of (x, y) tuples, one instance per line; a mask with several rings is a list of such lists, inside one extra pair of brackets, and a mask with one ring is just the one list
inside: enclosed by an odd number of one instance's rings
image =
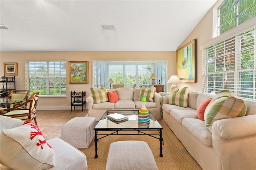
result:
[[(126, 63), (126, 64), (124, 64)], [(94, 61), (94, 87), (100, 88), (104, 84), (108, 89), (110, 84), (106, 83), (112, 78), (114, 83), (124, 83), (124, 87), (132, 88), (148, 86), (152, 83), (150, 76), (155, 73), (161, 84), (166, 83), (166, 61)]]

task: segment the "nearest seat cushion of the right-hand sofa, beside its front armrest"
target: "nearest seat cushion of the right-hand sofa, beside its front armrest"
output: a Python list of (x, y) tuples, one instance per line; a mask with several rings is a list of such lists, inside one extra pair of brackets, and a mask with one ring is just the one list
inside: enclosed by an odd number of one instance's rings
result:
[[(205, 128), (204, 121), (193, 118), (182, 120), (182, 126), (205, 146), (212, 146), (212, 133)], [(200, 149), (200, 148), (199, 148)]]

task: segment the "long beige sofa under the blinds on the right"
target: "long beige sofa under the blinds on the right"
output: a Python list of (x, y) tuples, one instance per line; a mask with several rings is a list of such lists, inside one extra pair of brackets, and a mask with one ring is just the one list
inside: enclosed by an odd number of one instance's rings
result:
[(167, 104), (168, 96), (164, 96), (164, 122), (202, 169), (255, 170), (256, 102), (244, 100), (246, 115), (215, 121), (211, 133), (196, 109), (212, 96), (190, 90), (187, 108)]

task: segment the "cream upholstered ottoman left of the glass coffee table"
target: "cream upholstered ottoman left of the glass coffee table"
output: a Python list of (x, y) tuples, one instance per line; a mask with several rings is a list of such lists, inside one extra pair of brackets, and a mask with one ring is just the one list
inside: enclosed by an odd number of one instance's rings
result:
[(94, 117), (74, 117), (62, 126), (60, 138), (76, 148), (88, 148), (94, 138)]

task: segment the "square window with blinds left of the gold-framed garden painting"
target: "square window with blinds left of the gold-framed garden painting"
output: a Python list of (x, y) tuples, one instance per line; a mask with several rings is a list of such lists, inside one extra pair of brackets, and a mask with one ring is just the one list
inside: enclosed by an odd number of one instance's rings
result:
[(66, 95), (65, 61), (27, 61), (25, 63), (26, 89), (30, 94)]

